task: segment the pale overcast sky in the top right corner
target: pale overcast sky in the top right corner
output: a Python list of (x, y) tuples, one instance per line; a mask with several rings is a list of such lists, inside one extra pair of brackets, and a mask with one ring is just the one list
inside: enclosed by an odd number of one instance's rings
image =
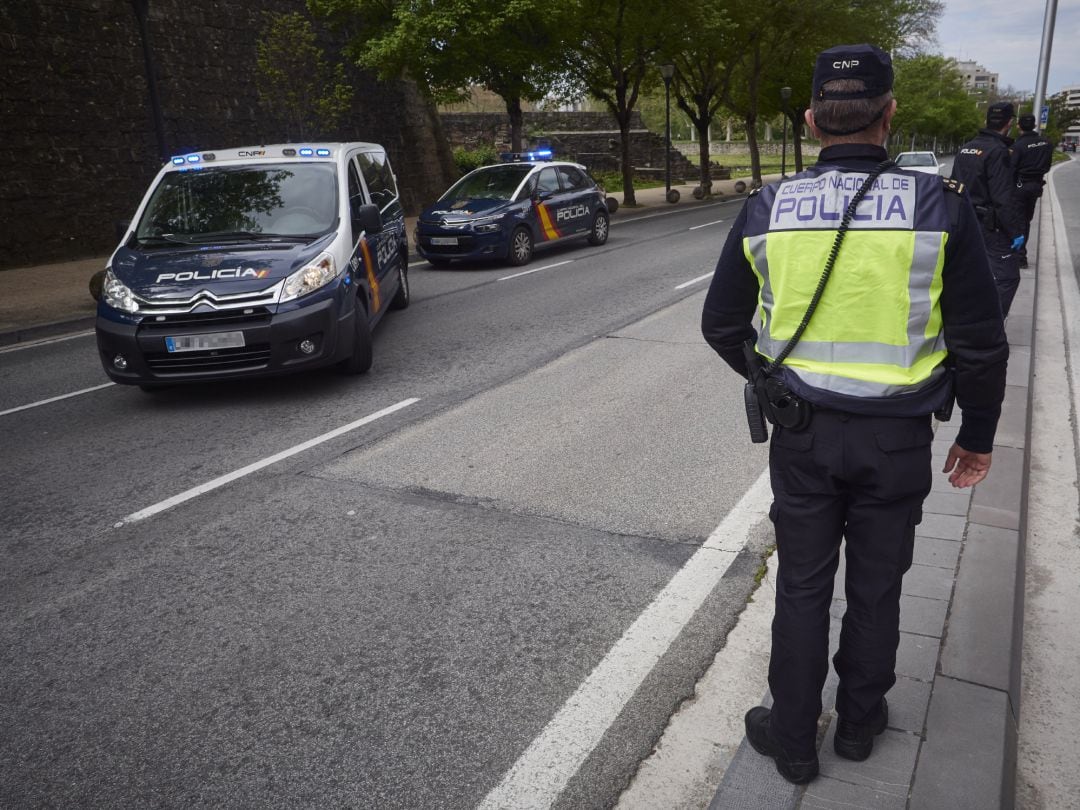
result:
[[(1034, 93), (1045, 9), (1039, 0), (945, 0), (939, 49), (998, 73), (1001, 87)], [(1057, 0), (1047, 95), (1068, 84), (1080, 84), (1080, 2)]]

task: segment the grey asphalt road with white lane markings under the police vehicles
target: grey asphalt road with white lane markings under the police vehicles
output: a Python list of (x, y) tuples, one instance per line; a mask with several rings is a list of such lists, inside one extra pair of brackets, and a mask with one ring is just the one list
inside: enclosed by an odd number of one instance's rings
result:
[(767, 536), (640, 630), (767, 462), (698, 329), (740, 204), (419, 262), (361, 378), (0, 353), (0, 806), (471, 808), (530, 761), (561, 775), (515, 804), (613, 805)]

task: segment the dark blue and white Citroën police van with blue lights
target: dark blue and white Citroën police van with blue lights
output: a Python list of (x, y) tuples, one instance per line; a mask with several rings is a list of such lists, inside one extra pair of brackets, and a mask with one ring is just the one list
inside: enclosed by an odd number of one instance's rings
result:
[(409, 302), (397, 183), (376, 144), (174, 157), (105, 270), (97, 347), (146, 389), (372, 365), (372, 328)]

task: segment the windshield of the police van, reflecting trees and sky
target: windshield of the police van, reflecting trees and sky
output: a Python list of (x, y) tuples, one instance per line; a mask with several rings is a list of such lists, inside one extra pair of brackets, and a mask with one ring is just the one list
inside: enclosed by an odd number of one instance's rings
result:
[(140, 242), (313, 237), (337, 219), (328, 163), (214, 166), (170, 172), (143, 213)]

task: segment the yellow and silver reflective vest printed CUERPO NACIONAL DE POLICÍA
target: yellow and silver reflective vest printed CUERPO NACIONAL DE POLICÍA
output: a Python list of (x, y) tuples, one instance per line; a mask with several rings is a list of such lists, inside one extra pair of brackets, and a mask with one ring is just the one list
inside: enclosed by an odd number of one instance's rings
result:
[[(775, 357), (798, 327), (836, 238), (837, 212), (865, 177), (834, 171), (781, 184), (766, 232), (744, 238), (760, 282), (762, 355)], [(915, 191), (909, 175), (887, 174), (860, 204), (818, 309), (784, 361), (808, 384), (890, 396), (942, 373), (947, 234), (915, 230)]]

